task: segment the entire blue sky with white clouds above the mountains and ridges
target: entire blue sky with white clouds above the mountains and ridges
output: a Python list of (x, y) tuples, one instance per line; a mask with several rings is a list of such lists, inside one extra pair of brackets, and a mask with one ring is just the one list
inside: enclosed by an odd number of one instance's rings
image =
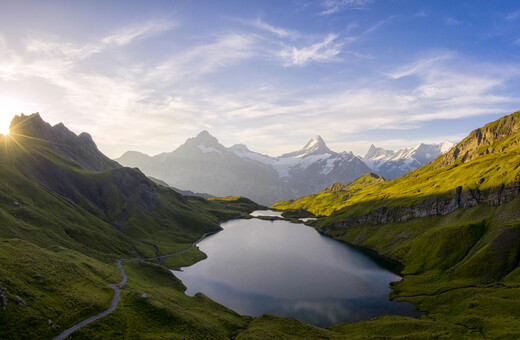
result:
[(38, 111), (112, 158), (458, 142), (519, 93), (519, 1), (0, 0), (0, 131)]

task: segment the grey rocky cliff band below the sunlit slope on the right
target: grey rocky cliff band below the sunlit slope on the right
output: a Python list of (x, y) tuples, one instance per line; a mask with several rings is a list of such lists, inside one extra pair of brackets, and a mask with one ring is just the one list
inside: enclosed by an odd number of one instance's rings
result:
[(479, 204), (498, 206), (513, 200), (519, 195), (520, 181), (485, 191), (464, 189), (459, 186), (447, 196), (428, 198), (410, 206), (378, 208), (368, 214), (350, 216), (342, 222), (323, 227), (321, 231), (362, 225), (403, 223), (413, 218), (447, 215), (457, 209), (468, 209)]

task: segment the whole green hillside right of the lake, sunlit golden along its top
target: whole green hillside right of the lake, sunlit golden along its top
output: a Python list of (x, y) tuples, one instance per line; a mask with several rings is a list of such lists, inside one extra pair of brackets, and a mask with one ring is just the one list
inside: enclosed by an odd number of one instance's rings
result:
[[(369, 182), (356, 191), (346, 185), (274, 207), (328, 215), (313, 225), (400, 261), (404, 279), (393, 284), (393, 295), (424, 311), (421, 320), (431, 322), (436, 335), (455, 327), (452, 331), (462, 333), (446, 336), (518, 338), (519, 141), (520, 112), (515, 112), (401, 178)], [(396, 325), (404, 321), (394, 317)], [(384, 324), (368, 323), (374, 329)]]

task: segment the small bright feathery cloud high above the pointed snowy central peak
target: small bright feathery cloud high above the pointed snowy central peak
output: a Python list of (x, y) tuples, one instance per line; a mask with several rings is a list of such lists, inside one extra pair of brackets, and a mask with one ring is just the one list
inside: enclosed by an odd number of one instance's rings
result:
[(335, 42), (338, 36), (329, 34), (323, 41), (302, 48), (289, 47), (281, 52), (289, 65), (302, 66), (310, 61), (331, 61), (341, 52), (342, 43)]

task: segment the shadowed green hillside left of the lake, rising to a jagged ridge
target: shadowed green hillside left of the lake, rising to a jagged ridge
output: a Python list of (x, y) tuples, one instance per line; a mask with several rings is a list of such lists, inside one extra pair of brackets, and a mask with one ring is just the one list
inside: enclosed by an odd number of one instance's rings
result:
[[(121, 280), (116, 259), (186, 249), (253, 205), (182, 196), (109, 160), (87, 134), (52, 127), (38, 114), (16, 117), (10, 135), (0, 135), (0, 338), (48, 339), (100, 313), (114, 295), (108, 284)], [(201, 258), (194, 248), (161, 262), (177, 267)], [(182, 284), (151, 263), (124, 263), (124, 307), (85, 337), (214, 331), (228, 338), (245, 324), (203, 296), (184, 296)], [(135, 301), (141, 290), (151, 298)]]

